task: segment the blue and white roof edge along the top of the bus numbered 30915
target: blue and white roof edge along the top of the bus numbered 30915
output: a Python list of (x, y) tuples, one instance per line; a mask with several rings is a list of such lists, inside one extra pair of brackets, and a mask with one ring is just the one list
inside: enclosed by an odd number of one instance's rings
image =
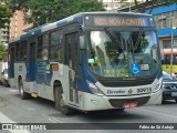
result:
[(45, 31), (49, 31), (49, 30), (52, 30), (52, 29), (55, 29), (55, 28), (64, 27), (64, 25), (67, 25), (70, 23), (73, 23), (73, 22), (77, 22), (77, 23), (83, 24), (84, 23), (84, 19), (83, 19), (84, 16), (88, 16), (88, 14), (90, 16), (103, 16), (103, 14), (106, 14), (106, 16), (119, 14), (119, 16), (122, 16), (122, 14), (124, 14), (124, 16), (145, 16), (145, 17), (148, 16), (148, 17), (152, 17), (150, 14), (134, 13), (134, 12), (115, 12), (115, 11), (80, 12), (80, 13), (73, 14), (71, 17), (64, 18), (62, 20), (59, 20), (59, 21), (55, 21), (55, 22), (52, 22), (52, 23), (45, 23), (43, 25), (31, 29), (23, 35), (20, 35), (20, 37), (17, 37), (17, 38), (11, 38), (9, 43), (20, 41), (20, 40), (27, 40), (28, 38), (31, 38), (33, 35), (41, 34)]

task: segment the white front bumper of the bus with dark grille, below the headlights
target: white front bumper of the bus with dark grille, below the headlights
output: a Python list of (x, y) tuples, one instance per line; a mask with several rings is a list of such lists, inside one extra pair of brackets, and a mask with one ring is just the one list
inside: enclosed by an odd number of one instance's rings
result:
[(132, 96), (97, 96), (84, 93), (84, 111), (124, 109), (125, 103), (137, 103), (137, 106), (162, 104), (162, 91)]

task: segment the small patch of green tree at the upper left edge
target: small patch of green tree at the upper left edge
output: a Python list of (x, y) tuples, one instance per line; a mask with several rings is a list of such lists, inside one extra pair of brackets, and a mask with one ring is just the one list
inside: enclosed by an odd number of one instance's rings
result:
[(9, 22), (9, 18), (12, 16), (12, 12), (3, 4), (0, 4), (0, 28), (4, 28), (4, 23)]

